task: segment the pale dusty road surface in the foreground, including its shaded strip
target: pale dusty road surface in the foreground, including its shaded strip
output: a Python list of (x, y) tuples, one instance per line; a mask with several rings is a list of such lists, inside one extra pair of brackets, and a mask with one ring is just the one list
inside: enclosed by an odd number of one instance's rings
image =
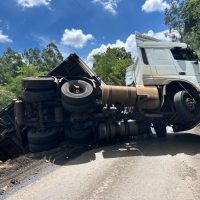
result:
[(50, 164), (8, 200), (200, 199), (200, 134), (170, 134), (85, 152)]

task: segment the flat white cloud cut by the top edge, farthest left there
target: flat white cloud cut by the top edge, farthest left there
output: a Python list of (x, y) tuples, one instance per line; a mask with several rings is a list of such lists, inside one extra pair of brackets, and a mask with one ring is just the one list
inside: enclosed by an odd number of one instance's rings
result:
[(17, 0), (18, 5), (26, 8), (49, 6), (51, 0)]

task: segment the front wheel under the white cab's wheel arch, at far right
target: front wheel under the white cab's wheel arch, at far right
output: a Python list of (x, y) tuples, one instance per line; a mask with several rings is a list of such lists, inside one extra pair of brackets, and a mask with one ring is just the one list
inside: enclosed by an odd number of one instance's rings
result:
[(183, 122), (191, 121), (198, 113), (195, 99), (186, 91), (179, 91), (174, 95), (174, 105)]

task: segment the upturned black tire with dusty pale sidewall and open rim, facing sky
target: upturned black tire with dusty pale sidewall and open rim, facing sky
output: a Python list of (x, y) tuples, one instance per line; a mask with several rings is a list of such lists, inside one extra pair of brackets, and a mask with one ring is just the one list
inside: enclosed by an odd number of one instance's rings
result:
[[(80, 93), (76, 94), (73, 92), (74, 85), (79, 87)], [(62, 85), (61, 98), (63, 102), (71, 105), (86, 104), (94, 100), (93, 91), (94, 89), (90, 83), (83, 80), (73, 80)]]

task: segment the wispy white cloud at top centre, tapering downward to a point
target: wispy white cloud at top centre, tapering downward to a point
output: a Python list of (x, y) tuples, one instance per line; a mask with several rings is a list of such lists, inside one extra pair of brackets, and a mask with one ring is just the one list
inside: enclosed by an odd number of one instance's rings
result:
[(112, 15), (116, 15), (116, 9), (119, 1), (120, 0), (92, 0), (92, 3), (99, 4), (103, 6), (107, 12), (111, 13)]

